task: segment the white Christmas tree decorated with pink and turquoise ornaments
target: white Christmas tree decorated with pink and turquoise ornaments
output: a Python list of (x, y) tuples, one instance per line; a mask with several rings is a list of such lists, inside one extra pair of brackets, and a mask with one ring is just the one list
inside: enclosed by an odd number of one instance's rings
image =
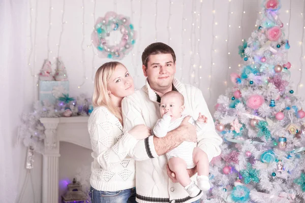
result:
[(290, 48), (278, 17), (281, 3), (263, 1), (233, 88), (218, 98), (215, 124), (224, 143), (211, 161), (204, 202), (305, 202), (303, 101), (290, 86)]

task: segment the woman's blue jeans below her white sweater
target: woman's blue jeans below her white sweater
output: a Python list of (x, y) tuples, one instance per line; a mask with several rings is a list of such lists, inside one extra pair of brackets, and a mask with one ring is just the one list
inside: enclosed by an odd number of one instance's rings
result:
[(118, 191), (99, 191), (90, 187), (92, 203), (136, 203), (136, 188)]

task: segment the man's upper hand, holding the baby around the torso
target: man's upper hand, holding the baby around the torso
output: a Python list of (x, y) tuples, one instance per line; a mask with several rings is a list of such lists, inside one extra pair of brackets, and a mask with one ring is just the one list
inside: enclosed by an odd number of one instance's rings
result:
[(177, 127), (175, 130), (179, 134), (179, 138), (181, 138), (182, 141), (187, 142), (197, 142), (197, 133), (196, 133), (196, 127), (195, 125), (189, 123), (189, 119), (191, 116), (187, 116), (183, 119), (180, 126)]

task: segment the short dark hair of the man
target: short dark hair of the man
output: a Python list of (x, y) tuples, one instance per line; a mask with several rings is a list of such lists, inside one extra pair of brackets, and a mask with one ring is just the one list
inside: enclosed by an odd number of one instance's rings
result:
[(142, 64), (147, 67), (147, 63), (149, 60), (150, 55), (156, 55), (156, 54), (171, 54), (173, 57), (173, 63), (176, 61), (176, 55), (174, 50), (168, 46), (167, 44), (164, 44), (162, 42), (156, 42), (153, 44), (148, 45), (143, 53), (142, 53)]

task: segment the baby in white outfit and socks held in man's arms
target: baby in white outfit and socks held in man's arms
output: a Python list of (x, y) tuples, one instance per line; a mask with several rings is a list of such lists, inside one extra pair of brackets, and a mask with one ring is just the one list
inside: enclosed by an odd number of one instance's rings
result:
[[(177, 91), (165, 93), (161, 98), (159, 119), (154, 127), (154, 134), (158, 138), (166, 136), (168, 131), (177, 128), (187, 116), (182, 116), (184, 111), (184, 96)], [(197, 121), (190, 118), (190, 123), (196, 126), (197, 133), (204, 129), (207, 118), (201, 113)], [(200, 190), (207, 191), (210, 188), (208, 173), (209, 162), (204, 151), (197, 147), (197, 143), (182, 142), (179, 146), (166, 153), (168, 166), (175, 173), (177, 181), (185, 188), (191, 197), (198, 195)], [(197, 184), (191, 181), (187, 169), (197, 165)]]

